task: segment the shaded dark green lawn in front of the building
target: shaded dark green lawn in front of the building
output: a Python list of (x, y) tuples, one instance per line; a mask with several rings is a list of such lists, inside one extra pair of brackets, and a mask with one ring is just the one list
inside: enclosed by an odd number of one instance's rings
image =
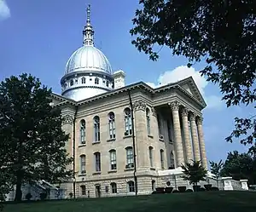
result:
[(254, 212), (256, 192), (195, 192), (5, 205), (3, 212)]

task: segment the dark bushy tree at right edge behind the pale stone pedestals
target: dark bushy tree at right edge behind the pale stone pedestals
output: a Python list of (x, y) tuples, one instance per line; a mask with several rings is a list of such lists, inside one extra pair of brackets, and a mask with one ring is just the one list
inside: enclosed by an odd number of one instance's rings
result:
[(232, 176), (234, 180), (247, 179), (249, 184), (254, 184), (256, 183), (255, 159), (248, 153), (229, 152), (220, 174)]

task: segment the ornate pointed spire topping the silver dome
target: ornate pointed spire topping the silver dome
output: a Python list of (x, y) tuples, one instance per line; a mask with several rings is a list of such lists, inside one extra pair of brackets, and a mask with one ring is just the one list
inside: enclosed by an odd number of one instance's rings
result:
[(90, 25), (90, 4), (88, 5), (86, 10), (87, 10), (87, 21), (83, 31), (83, 43), (84, 43), (84, 46), (93, 46), (94, 31), (92, 26)]

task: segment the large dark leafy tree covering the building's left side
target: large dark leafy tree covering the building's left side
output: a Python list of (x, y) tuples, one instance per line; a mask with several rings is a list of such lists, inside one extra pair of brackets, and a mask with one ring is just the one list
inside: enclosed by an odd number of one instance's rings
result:
[(6, 167), (15, 185), (15, 201), (21, 186), (32, 180), (65, 180), (72, 159), (65, 144), (69, 135), (61, 129), (61, 112), (49, 103), (51, 90), (31, 75), (9, 77), (0, 84), (1, 141)]

